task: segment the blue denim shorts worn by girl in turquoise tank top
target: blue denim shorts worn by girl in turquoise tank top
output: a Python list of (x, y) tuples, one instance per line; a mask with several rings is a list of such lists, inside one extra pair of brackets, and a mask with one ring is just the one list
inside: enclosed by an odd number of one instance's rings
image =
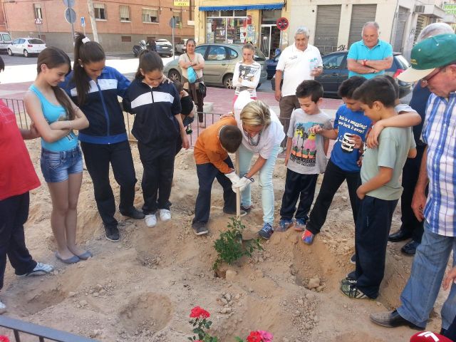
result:
[(41, 149), (41, 172), (47, 183), (64, 182), (68, 175), (83, 172), (83, 156), (78, 147), (63, 152)]

